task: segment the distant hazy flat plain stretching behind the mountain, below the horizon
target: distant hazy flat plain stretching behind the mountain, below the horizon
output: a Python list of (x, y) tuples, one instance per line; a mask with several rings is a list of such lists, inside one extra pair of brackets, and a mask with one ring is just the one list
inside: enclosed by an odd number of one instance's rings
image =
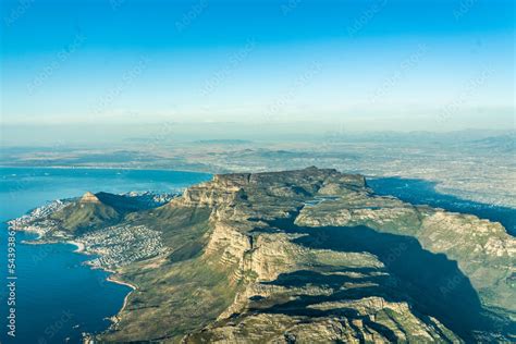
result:
[(207, 139), (192, 143), (142, 138), (124, 148), (4, 149), (0, 165), (167, 169), (209, 173), (334, 168), (368, 176), (435, 182), (444, 194), (516, 208), (514, 134), (475, 138), (457, 134), (354, 136), (328, 133), (303, 142)]

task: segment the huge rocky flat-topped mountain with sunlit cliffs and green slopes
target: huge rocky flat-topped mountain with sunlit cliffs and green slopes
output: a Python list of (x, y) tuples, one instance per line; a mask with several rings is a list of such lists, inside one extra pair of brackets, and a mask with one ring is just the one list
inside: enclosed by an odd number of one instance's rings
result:
[(100, 255), (102, 243), (148, 242), (126, 265), (108, 255), (136, 290), (98, 340), (516, 340), (514, 237), (500, 223), (374, 195), (361, 175), (216, 175), (139, 210), (96, 197), (118, 223), (95, 222), (75, 241)]

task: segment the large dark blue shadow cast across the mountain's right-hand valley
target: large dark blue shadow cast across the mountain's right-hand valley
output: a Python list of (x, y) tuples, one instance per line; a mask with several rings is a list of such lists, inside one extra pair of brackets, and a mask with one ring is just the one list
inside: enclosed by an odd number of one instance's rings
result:
[[(421, 315), (434, 317), (467, 342), (474, 341), (474, 331), (501, 331), (500, 324), (496, 325), (499, 322), (495, 323), (482, 308), (477, 292), (469, 279), (458, 269), (457, 262), (447, 259), (443, 254), (425, 250), (416, 238), (381, 233), (367, 226), (302, 228), (293, 223), (294, 219), (295, 217), (275, 220), (270, 224), (288, 233), (308, 234), (294, 241), (306, 247), (373, 254), (384, 263), (389, 275), (368, 274), (372, 272), (371, 269), (349, 268), (344, 268), (341, 272), (359, 272), (363, 277), (356, 279), (345, 274), (328, 275), (314, 271), (281, 274), (269, 283), (284, 286), (324, 285), (333, 287), (334, 293), (330, 296), (302, 296), (296, 300), (275, 305), (267, 311), (317, 317), (334, 312), (335, 309), (321, 311), (307, 308), (308, 305), (381, 296), (388, 302), (408, 302), (423, 321), (426, 317)], [(346, 282), (371, 283), (371, 286), (340, 290)], [(357, 315), (352, 318), (355, 317)], [(380, 332), (386, 337), (390, 335), (389, 331)]]

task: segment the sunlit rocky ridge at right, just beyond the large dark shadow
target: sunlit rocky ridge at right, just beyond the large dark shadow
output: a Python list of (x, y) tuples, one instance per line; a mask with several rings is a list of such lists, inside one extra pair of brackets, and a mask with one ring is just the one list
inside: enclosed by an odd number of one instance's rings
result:
[[(423, 249), (444, 254), (456, 261), (464, 273), (464, 277), (446, 277), (439, 285), (443, 294), (450, 296), (463, 283), (470, 282), (486, 306), (511, 312), (516, 310), (516, 304), (511, 300), (514, 297), (512, 277), (516, 241), (500, 223), (357, 193), (303, 209), (296, 224), (307, 228), (367, 226), (380, 233), (410, 235)], [(444, 275), (443, 272), (440, 274)]]

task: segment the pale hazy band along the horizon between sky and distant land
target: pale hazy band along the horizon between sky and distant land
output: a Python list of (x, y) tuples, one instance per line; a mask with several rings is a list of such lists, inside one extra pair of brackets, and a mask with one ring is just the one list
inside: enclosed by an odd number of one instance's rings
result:
[[(450, 131), (420, 130), (394, 131), (377, 126), (374, 130), (358, 130), (341, 124), (321, 123), (143, 123), (143, 124), (49, 124), (49, 125), (4, 125), (2, 146), (9, 147), (83, 147), (101, 148), (115, 146), (122, 148), (136, 146), (138, 142), (160, 144), (193, 143), (198, 140), (247, 140), (249, 143), (295, 143), (331, 140), (370, 140), (389, 137), (475, 140), (487, 137), (513, 135), (514, 128), (464, 128)], [(512, 137), (513, 137), (512, 136)]]

